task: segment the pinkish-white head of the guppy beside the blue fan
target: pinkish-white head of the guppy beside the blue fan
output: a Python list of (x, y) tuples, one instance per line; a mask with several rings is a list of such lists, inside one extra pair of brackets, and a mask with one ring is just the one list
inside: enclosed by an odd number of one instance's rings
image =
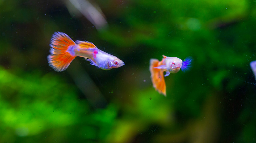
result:
[(182, 60), (177, 57), (166, 57), (165, 64), (171, 73), (177, 73), (182, 67)]

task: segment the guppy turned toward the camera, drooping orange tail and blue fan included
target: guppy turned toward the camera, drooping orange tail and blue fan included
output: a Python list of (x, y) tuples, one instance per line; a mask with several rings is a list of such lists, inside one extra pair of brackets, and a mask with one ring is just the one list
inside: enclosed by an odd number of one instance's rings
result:
[[(153, 87), (160, 93), (166, 96), (166, 85), (164, 76), (170, 73), (177, 73), (180, 69), (185, 72), (189, 70), (192, 62), (192, 57), (187, 57), (184, 61), (177, 57), (167, 57), (163, 55), (162, 61), (150, 59), (150, 73)], [(163, 72), (166, 74), (163, 76)]]

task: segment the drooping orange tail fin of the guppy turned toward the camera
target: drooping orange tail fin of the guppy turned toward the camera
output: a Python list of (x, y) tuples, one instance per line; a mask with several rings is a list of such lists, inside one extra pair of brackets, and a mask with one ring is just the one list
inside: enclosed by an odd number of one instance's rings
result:
[(150, 73), (153, 87), (160, 93), (166, 96), (166, 85), (163, 76), (163, 69), (155, 69), (154, 67), (160, 66), (160, 62), (157, 59), (150, 59)]

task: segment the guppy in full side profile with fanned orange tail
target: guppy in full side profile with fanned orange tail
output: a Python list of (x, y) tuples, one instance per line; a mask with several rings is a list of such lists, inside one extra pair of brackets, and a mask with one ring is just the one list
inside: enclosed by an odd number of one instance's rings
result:
[(99, 50), (93, 43), (87, 41), (73, 41), (67, 34), (54, 32), (50, 42), (50, 55), (47, 60), (49, 66), (61, 72), (68, 68), (71, 61), (77, 57), (84, 57), (103, 70), (110, 70), (124, 65), (119, 58)]

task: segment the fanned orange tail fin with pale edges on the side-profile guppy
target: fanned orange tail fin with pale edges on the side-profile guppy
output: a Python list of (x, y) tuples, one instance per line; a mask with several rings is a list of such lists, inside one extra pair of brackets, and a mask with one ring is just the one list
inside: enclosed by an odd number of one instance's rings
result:
[(75, 47), (74, 41), (65, 33), (54, 32), (50, 47), (51, 54), (47, 57), (49, 66), (58, 72), (66, 70), (76, 57), (72, 50)]

